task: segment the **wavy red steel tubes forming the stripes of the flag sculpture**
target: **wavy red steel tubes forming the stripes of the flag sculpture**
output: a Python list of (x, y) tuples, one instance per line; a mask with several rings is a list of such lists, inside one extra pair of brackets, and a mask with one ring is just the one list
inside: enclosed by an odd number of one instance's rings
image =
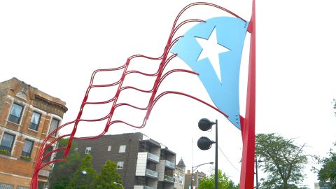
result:
[[(145, 55), (133, 55), (129, 58), (127, 58), (127, 62), (123, 65), (123, 66), (120, 66), (118, 68), (113, 68), (113, 69), (97, 69), (96, 71), (93, 71), (92, 73), (92, 76), (91, 76), (91, 80), (90, 80), (90, 84), (89, 86), (87, 87), (87, 90), (85, 92), (85, 96), (83, 97), (83, 102), (80, 106), (80, 109), (79, 109), (79, 112), (78, 112), (78, 115), (77, 115), (77, 118), (76, 120), (73, 120), (69, 123), (65, 123), (64, 125), (61, 125), (59, 127), (57, 127), (56, 130), (52, 131), (50, 134), (48, 134), (48, 136), (44, 139), (44, 141), (42, 142), (40, 148), (39, 148), (39, 151), (38, 151), (38, 156), (36, 158), (36, 164), (35, 164), (35, 168), (34, 168), (34, 175), (31, 179), (31, 188), (33, 189), (37, 189), (38, 188), (38, 172), (45, 166), (47, 165), (50, 165), (54, 162), (59, 162), (59, 161), (65, 161), (66, 160), (66, 157), (69, 153), (69, 149), (70, 149), (70, 146), (71, 146), (71, 141), (73, 139), (97, 139), (99, 137), (102, 137), (106, 132), (108, 132), (109, 130), (109, 127), (115, 123), (124, 123), (125, 125), (129, 125), (131, 127), (137, 127), (137, 128), (141, 128), (141, 127), (144, 127), (146, 125), (146, 120), (148, 120), (150, 114), (151, 114), (151, 111), (153, 109), (153, 106), (156, 104), (156, 102), (158, 102), (158, 100), (165, 96), (166, 94), (179, 94), (179, 95), (182, 95), (182, 96), (186, 96), (186, 97), (190, 97), (192, 99), (195, 99), (197, 100), (198, 102), (201, 102), (209, 107), (211, 107), (212, 109), (215, 109), (216, 111), (220, 112), (223, 114), (223, 116), (225, 117), (228, 117), (225, 113), (223, 113), (222, 111), (220, 111), (219, 109), (217, 109), (215, 106), (212, 106), (211, 104), (208, 104), (207, 102), (204, 102), (202, 101), (201, 99), (198, 99), (197, 97), (193, 97), (189, 94), (185, 94), (185, 93), (182, 93), (182, 92), (176, 92), (176, 91), (165, 91), (165, 92), (162, 92), (160, 94), (157, 95), (157, 92), (158, 92), (158, 87), (160, 87), (160, 84), (162, 83), (162, 81), (167, 78), (167, 76), (169, 76), (170, 74), (172, 73), (175, 73), (175, 72), (184, 72), (184, 73), (192, 73), (194, 75), (197, 75), (198, 73), (195, 73), (194, 71), (189, 71), (189, 70), (183, 70), (183, 69), (173, 69), (171, 71), (167, 71), (167, 73), (163, 74), (163, 71), (165, 70), (167, 64), (170, 62), (170, 60), (174, 59), (174, 57), (176, 57), (176, 55), (171, 55), (169, 56), (169, 51), (170, 49), (172, 48), (172, 46), (174, 45), (174, 43), (176, 43), (176, 41), (181, 37), (177, 37), (173, 40), (174, 38), (174, 34), (176, 33), (176, 31), (182, 27), (183, 25), (185, 25), (186, 23), (188, 22), (204, 22), (204, 20), (198, 20), (198, 19), (191, 19), (191, 20), (184, 20), (182, 21), (179, 25), (177, 25), (177, 22), (179, 21), (179, 18), (181, 17), (182, 13), (184, 13), (186, 10), (188, 10), (188, 8), (190, 7), (193, 7), (193, 6), (212, 6), (214, 8), (219, 8), (221, 10), (224, 10), (225, 12), (227, 13), (230, 13), (231, 15), (235, 16), (236, 18), (240, 18), (238, 15), (236, 15), (235, 13), (232, 13), (230, 10), (227, 10), (221, 6), (218, 6), (216, 4), (213, 4), (213, 3), (206, 3), (206, 2), (197, 2), (197, 3), (190, 3), (188, 6), (186, 6), (185, 8), (183, 8), (179, 15), (177, 15), (176, 19), (174, 20), (174, 25), (172, 27), (172, 31), (171, 33), (169, 34), (169, 38), (167, 40), (167, 44), (165, 46), (165, 50), (163, 51), (162, 55), (160, 57), (147, 57)], [(242, 18), (240, 18), (241, 20), (244, 20)], [(244, 20), (245, 21), (245, 20)], [(254, 27), (253, 27), (254, 28)], [(159, 69), (156, 73), (143, 73), (143, 72), (140, 72), (140, 71), (135, 71), (135, 70), (127, 70), (128, 69), (128, 66), (130, 65), (130, 62), (132, 61), (132, 59), (136, 59), (136, 58), (146, 58), (146, 59), (151, 59), (151, 60), (158, 60), (160, 61), (160, 66), (159, 66)], [(99, 72), (104, 72), (104, 71), (118, 71), (118, 70), (123, 70), (123, 75), (121, 76), (120, 80), (118, 80), (117, 82), (115, 83), (111, 83), (111, 84), (106, 84), (106, 85), (93, 85), (93, 81), (94, 81), (94, 77), (96, 76), (97, 73)], [(132, 86), (123, 86), (123, 82), (125, 80), (125, 76), (129, 75), (129, 74), (132, 74), (132, 73), (139, 73), (141, 75), (144, 75), (144, 76), (150, 76), (150, 77), (156, 77), (156, 80), (155, 80), (155, 83), (153, 85), (153, 88), (151, 90), (141, 90), (137, 87), (132, 87)], [(106, 100), (104, 102), (87, 102), (87, 99), (88, 99), (88, 96), (89, 96), (89, 93), (90, 93), (90, 90), (94, 87), (111, 87), (111, 86), (118, 86), (118, 90), (115, 94), (114, 97), (112, 97), (111, 99), (109, 100)], [(137, 107), (137, 106), (133, 106), (131, 104), (127, 104), (127, 103), (117, 103), (118, 102), (118, 97), (120, 95), (120, 92), (123, 91), (123, 90), (127, 90), (127, 89), (134, 89), (134, 90), (138, 90), (140, 92), (146, 92), (146, 93), (151, 93), (151, 99), (148, 101), (148, 105), (146, 107)], [(85, 119), (82, 119), (81, 116), (83, 115), (83, 110), (84, 110), (84, 107), (85, 105), (87, 104), (107, 104), (107, 103), (111, 103), (113, 102), (113, 105), (111, 106), (111, 110), (110, 112), (108, 113), (108, 115), (102, 117), (102, 118), (98, 118), (98, 119), (92, 119), (92, 120), (85, 120)], [(147, 111), (146, 112), (146, 116), (143, 120), (143, 123), (141, 125), (132, 125), (130, 123), (127, 123), (123, 120), (112, 120), (112, 116), (113, 116), (113, 113), (114, 111), (116, 111), (116, 109), (120, 106), (130, 106), (134, 109), (139, 109), (139, 110), (144, 110), (144, 111)], [(104, 131), (102, 131), (101, 134), (97, 135), (97, 136), (94, 136), (94, 137), (75, 137), (75, 134), (76, 134), (76, 131), (77, 131), (77, 127), (78, 127), (78, 124), (80, 122), (97, 122), (97, 121), (102, 121), (102, 120), (106, 120), (106, 125), (105, 125), (105, 128), (104, 128)], [(52, 137), (53, 134), (57, 133), (57, 131), (61, 130), (63, 127), (65, 127), (66, 125), (73, 125), (73, 130), (71, 132), (71, 134), (64, 134), (60, 137), (57, 137), (56, 139), (53, 139), (51, 142), (48, 142), (50, 140), (50, 137)], [(244, 136), (247, 136), (245, 135), (244, 133), (243, 134), (243, 141), (244, 141)], [(52, 145), (55, 145), (57, 143), (57, 141), (59, 139), (63, 139), (65, 137), (69, 137), (69, 144), (64, 147), (64, 148), (56, 148), (55, 150), (52, 150), (48, 153), (45, 154), (45, 152), (47, 151), (47, 149), (52, 146)], [(57, 160), (51, 160), (50, 162), (45, 162), (43, 163), (43, 160), (45, 160), (45, 158), (48, 158), (48, 156), (52, 155), (52, 153), (55, 153), (57, 151), (64, 151), (64, 157), (62, 159), (57, 159)], [(253, 151), (253, 155), (254, 155), (254, 151)], [(249, 160), (249, 159), (248, 159)], [(253, 158), (252, 158), (253, 160)]]

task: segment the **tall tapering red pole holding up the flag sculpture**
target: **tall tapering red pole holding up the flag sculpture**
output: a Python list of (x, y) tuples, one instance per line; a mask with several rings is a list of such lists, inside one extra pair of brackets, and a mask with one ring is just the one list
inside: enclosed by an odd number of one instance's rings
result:
[(255, 1), (252, 3), (252, 16), (248, 25), (251, 33), (250, 59), (248, 64), (248, 81), (246, 94), (246, 114), (242, 118), (241, 137), (243, 154), (241, 158), (240, 189), (252, 189), (254, 181), (255, 155)]

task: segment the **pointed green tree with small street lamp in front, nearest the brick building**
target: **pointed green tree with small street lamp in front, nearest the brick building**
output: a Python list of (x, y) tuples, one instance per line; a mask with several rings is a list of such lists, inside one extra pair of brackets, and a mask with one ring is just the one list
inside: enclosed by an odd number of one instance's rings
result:
[(94, 188), (94, 175), (96, 170), (92, 167), (92, 155), (87, 154), (83, 158), (80, 166), (73, 174), (71, 181), (66, 186), (66, 189), (81, 188), (89, 189)]

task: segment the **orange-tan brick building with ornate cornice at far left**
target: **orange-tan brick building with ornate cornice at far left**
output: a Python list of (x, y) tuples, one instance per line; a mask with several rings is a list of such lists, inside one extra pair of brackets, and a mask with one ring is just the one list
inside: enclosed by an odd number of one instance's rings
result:
[[(29, 188), (38, 149), (62, 122), (65, 105), (17, 78), (0, 83), (0, 188)], [(39, 185), (49, 172), (38, 173)]]

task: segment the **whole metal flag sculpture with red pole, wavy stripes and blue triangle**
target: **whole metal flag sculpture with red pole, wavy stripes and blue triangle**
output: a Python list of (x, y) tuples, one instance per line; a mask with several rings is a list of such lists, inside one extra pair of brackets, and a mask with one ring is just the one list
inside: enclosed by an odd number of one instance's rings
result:
[[(169, 38), (165, 49), (160, 57), (148, 57), (145, 55), (133, 55), (127, 58), (126, 63), (123, 66), (114, 69), (97, 69), (92, 73), (90, 85), (87, 87), (83, 102), (80, 106), (78, 116), (76, 120), (69, 123), (65, 123), (57, 127), (56, 130), (48, 134), (45, 137), (41, 147), (38, 151), (38, 157), (36, 158), (36, 165), (34, 168), (34, 175), (31, 179), (31, 188), (36, 189), (38, 187), (38, 172), (44, 167), (58, 161), (66, 160), (71, 147), (71, 141), (73, 139), (97, 139), (102, 137), (106, 132), (108, 132), (109, 127), (115, 123), (124, 123), (131, 127), (141, 128), (146, 125), (146, 120), (148, 120), (153, 106), (158, 102), (158, 100), (165, 96), (166, 94), (179, 94), (192, 99), (197, 100), (212, 109), (220, 112), (230, 120), (230, 122), (235, 125), (239, 130), (241, 130), (241, 136), (243, 139), (243, 155), (241, 161), (241, 179), (240, 188), (253, 188), (253, 178), (254, 178), (254, 140), (255, 140), (255, 6), (253, 1), (252, 18), (250, 22), (246, 22), (243, 18), (240, 18), (235, 13), (227, 10), (221, 6), (213, 3), (198, 2), (191, 3), (181, 10), (179, 15), (177, 15), (172, 31), (169, 34)], [(227, 13), (230, 13), (233, 17), (218, 17), (211, 18), (209, 20), (199, 20), (190, 19), (183, 20), (179, 22), (181, 15), (188, 10), (188, 8), (193, 6), (211, 6), (218, 8)], [(176, 31), (188, 22), (199, 22), (195, 27), (191, 28), (186, 32), (184, 36), (175, 37)], [(251, 44), (250, 44), (250, 60), (248, 68), (248, 90), (247, 90), (247, 101), (246, 101), (246, 116), (239, 113), (239, 69), (241, 61), (241, 52), (244, 45), (244, 39), (246, 36), (246, 31), (251, 33)], [(214, 56), (207, 55), (207, 49), (202, 47), (204, 40), (209, 40), (214, 38), (216, 40), (216, 48), (218, 48), (217, 54)], [(173, 52), (170, 55), (169, 52)], [(176, 56), (183, 59), (193, 71), (186, 69), (173, 69), (164, 73), (167, 64), (174, 59)], [(130, 62), (134, 59), (151, 59), (158, 64), (158, 70), (155, 73), (144, 73), (137, 70), (129, 69)], [(120, 80), (115, 83), (106, 83), (102, 85), (94, 85), (94, 79), (97, 73), (106, 73), (111, 71), (123, 71)], [(204, 102), (202, 99), (193, 97), (190, 94), (186, 94), (178, 91), (165, 91), (158, 94), (158, 88), (167, 76), (175, 72), (191, 73), (193, 75), (199, 76), (204, 87), (209, 93), (215, 106)], [(139, 87), (125, 85), (124, 80), (130, 74), (141, 74), (142, 76), (147, 76), (155, 78), (155, 83), (153, 84), (151, 90), (140, 89)], [(114, 94), (109, 100), (104, 102), (88, 102), (87, 99), (90, 94), (90, 90), (93, 88), (102, 87), (118, 87), (116, 94)], [(134, 106), (132, 104), (118, 102), (120, 97), (120, 92), (124, 90), (137, 90), (138, 92), (144, 92), (150, 94), (151, 97), (148, 99), (148, 104), (146, 107)], [(82, 118), (83, 111), (87, 105), (97, 105), (97, 104), (110, 104), (111, 109), (107, 115), (100, 116), (96, 119), (85, 119)], [(141, 111), (146, 111), (146, 116), (144, 117), (140, 125), (132, 125), (127, 120), (113, 120), (113, 114), (116, 109), (121, 106), (128, 106), (132, 109), (138, 109)], [(94, 137), (75, 137), (78, 125), (82, 122), (100, 122), (104, 121), (104, 130), (100, 134)], [(60, 137), (54, 137), (58, 130), (62, 129), (66, 125), (73, 125), (73, 130), (70, 134), (64, 134)], [(52, 151), (48, 151), (52, 146), (57, 144), (59, 139), (69, 137), (69, 143), (66, 147), (55, 148)], [(54, 153), (59, 151), (64, 151), (64, 156), (62, 159), (48, 160), (47, 158), (52, 156)]]

